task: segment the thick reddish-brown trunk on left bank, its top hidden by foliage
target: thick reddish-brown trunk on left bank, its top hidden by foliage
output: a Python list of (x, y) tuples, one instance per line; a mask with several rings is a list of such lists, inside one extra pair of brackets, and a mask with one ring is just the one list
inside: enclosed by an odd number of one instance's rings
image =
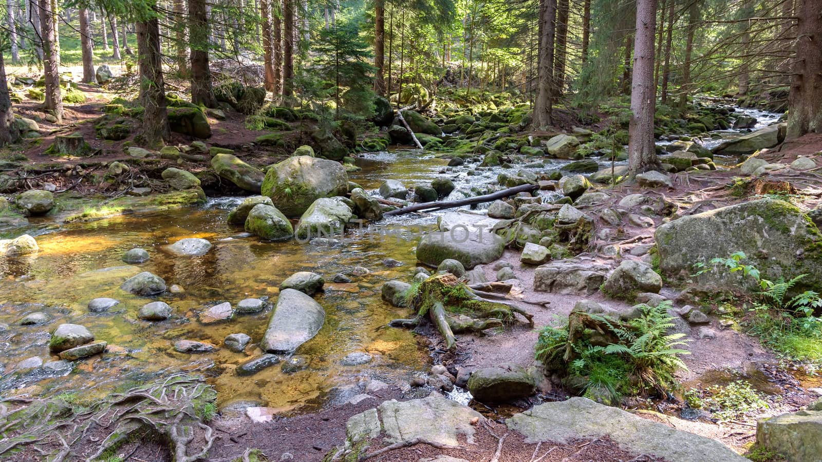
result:
[(158, 148), (169, 138), (169, 118), (156, 18), (137, 23), (137, 56), (140, 62), (140, 104), (145, 108), (142, 136), (146, 146)]

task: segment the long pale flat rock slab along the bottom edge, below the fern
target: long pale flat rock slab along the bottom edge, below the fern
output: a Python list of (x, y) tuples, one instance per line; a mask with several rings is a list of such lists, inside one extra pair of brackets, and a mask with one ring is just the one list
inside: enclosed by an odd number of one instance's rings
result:
[(747, 460), (719, 441), (682, 432), (587, 398), (540, 404), (515, 414), (506, 425), (522, 433), (529, 443), (566, 444), (575, 438), (610, 437), (626, 450), (656, 455), (671, 462)]

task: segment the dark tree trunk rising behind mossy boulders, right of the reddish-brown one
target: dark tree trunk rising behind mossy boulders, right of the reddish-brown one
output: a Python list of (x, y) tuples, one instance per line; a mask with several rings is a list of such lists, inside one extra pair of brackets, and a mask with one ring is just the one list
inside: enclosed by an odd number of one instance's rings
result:
[(188, 41), (192, 48), (192, 103), (214, 108), (217, 102), (211, 87), (208, 36), (205, 0), (188, 0)]

